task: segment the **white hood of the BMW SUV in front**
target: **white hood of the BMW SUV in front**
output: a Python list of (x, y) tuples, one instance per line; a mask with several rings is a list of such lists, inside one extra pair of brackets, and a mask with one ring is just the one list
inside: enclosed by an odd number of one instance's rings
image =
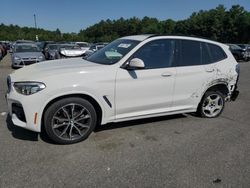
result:
[(17, 81), (42, 81), (49, 76), (59, 74), (74, 74), (90, 72), (105, 65), (92, 63), (82, 58), (59, 59), (43, 61), (16, 70), (11, 74), (12, 82)]

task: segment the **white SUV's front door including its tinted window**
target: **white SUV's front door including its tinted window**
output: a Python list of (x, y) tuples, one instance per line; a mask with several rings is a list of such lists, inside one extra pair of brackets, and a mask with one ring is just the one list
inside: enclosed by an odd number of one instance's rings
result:
[(174, 40), (146, 43), (132, 55), (143, 60), (145, 68), (119, 68), (116, 77), (116, 119), (167, 112), (172, 107), (176, 69)]

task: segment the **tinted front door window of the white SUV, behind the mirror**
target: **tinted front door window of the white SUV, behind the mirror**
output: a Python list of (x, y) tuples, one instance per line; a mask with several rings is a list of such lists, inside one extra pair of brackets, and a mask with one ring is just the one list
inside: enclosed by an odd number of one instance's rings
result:
[(174, 58), (174, 40), (161, 39), (146, 43), (133, 58), (144, 61), (146, 69), (171, 67)]

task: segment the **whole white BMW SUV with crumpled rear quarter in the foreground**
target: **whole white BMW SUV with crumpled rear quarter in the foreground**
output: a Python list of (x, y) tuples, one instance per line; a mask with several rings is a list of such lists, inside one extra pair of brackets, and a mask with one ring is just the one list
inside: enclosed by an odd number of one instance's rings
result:
[(71, 144), (109, 122), (189, 112), (217, 117), (225, 101), (238, 95), (238, 74), (227, 45), (194, 37), (128, 36), (86, 59), (15, 71), (7, 78), (7, 101), (15, 125)]

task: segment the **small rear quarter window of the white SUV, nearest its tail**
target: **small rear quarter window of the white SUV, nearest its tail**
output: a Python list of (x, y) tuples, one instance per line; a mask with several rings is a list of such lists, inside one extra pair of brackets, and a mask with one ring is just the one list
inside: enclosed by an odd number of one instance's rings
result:
[(208, 45), (210, 56), (211, 56), (211, 63), (215, 63), (217, 61), (221, 61), (227, 58), (227, 55), (221, 49), (221, 47), (215, 44), (209, 44), (209, 43), (207, 43), (207, 45)]

